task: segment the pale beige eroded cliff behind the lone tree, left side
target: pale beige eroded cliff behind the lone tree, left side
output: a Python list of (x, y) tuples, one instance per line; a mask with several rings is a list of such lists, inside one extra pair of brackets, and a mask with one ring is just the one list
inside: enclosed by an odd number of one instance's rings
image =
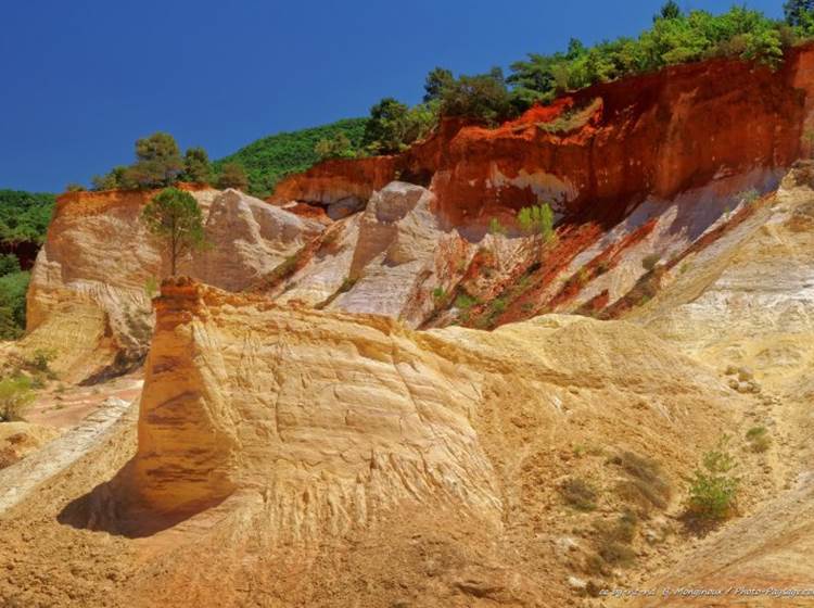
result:
[[(321, 224), (234, 190), (192, 190), (209, 246), (180, 270), (230, 290), (283, 263)], [(69, 192), (58, 201), (31, 274), (23, 346), (60, 354), (55, 369), (84, 379), (126, 369), (152, 333), (149, 281), (168, 274), (164, 249), (140, 220), (154, 191)]]

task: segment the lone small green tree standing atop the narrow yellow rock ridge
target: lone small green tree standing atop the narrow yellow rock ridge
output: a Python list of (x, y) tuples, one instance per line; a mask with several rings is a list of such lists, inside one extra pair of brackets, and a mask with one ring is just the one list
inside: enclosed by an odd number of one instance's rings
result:
[(169, 254), (170, 274), (187, 254), (203, 249), (206, 240), (203, 214), (189, 192), (166, 188), (148, 203), (141, 214), (148, 229), (164, 240)]

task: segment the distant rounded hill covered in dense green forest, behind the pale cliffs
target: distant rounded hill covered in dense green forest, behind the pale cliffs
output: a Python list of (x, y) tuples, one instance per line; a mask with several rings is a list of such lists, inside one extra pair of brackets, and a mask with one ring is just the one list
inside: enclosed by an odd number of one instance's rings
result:
[(360, 151), (367, 123), (367, 118), (348, 118), (321, 127), (265, 137), (216, 161), (214, 168), (220, 173), (226, 163), (238, 163), (249, 176), (249, 192), (266, 197), (280, 179), (304, 172), (320, 160), (317, 152), (320, 141), (334, 140), (342, 134), (351, 142), (349, 150)]

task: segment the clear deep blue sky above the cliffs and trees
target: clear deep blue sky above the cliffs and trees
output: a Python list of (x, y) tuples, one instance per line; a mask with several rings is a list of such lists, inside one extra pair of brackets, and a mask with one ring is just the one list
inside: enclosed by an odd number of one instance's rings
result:
[[(733, 0), (679, 0), (718, 12)], [(507, 67), (647, 27), (662, 0), (2, 0), (0, 188), (59, 191), (155, 130), (220, 157), (417, 102), (435, 65)], [(748, 5), (780, 16), (781, 0)]]

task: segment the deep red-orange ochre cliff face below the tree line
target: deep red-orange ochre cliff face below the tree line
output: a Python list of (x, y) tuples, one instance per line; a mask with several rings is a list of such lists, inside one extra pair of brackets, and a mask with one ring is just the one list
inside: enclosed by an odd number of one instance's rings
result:
[(754, 169), (776, 178), (810, 147), (813, 68), (805, 46), (774, 72), (714, 60), (596, 85), (497, 129), (448, 121), (402, 155), (322, 163), (270, 200), (329, 204), (400, 178), (430, 183), (451, 225), (483, 225), (539, 200), (615, 224), (648, 195)]

